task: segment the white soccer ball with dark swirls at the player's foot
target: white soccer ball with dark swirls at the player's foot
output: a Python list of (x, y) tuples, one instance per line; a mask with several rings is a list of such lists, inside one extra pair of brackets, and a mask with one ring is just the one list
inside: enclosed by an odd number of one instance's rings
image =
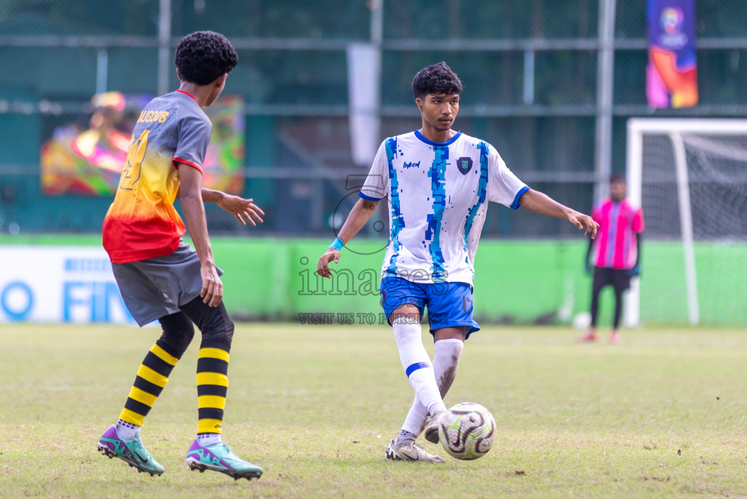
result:
[(450, 456), (470, 461), (485, 456), (495, 440), (495, 419), (479, 403), (462, 402), (447, 410), (438, 440)]

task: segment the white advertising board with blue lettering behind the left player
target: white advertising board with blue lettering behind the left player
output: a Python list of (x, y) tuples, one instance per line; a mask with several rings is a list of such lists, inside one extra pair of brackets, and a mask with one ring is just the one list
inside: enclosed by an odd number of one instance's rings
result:
[(95, 247), (0, 247), (0, 322), (134, 324)]

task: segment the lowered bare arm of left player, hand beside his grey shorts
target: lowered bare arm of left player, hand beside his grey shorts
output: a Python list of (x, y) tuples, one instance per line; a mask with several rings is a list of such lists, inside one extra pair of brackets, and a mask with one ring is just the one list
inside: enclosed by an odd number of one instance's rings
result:
[(179, 165), (179, 184), (185, 222), (192, 238), (194, 249), (199, 256), (202, 276), (202, 291), (199, 296), (211, 307), (220, 305), (223, 299), (223, 283), (220, 282), (213, 250), (208, 238), (208, 220), (205, 218), (205, 205), (202, 204), (202, 172), (185, 164)]

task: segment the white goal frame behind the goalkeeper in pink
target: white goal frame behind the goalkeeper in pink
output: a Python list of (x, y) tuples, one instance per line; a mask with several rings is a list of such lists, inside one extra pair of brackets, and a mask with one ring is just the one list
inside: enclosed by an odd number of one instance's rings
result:
[[(685, 261), (687, 314), (693, 326), (700, 322), (697, 271), (692, 238), (692, 207), (690, 205), (687, 160), (682, 134), (747, 135), (747, 120), (704, 120), (698, 118), (630, 118), (627, 120), (627, 199), (635, 207), (641, 205), (643, 181), (643, 135), (665, 135), (672, 142), (677, 176), (678, 205), (682, 246)], [(645, 214), (644, 214), (645, 217)], [(645, 262), (644, 262), (645, 263)], [(640, 320), (640, 282), (630, 282), (624, 308), (624, 324), (637, 326)]]

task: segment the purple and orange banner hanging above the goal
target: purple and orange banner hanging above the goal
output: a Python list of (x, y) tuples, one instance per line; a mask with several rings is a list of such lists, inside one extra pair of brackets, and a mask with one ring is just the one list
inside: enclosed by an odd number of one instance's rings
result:
[(646, 96), (652, 108), (698, 104), (695, 0), (647, 0)]

